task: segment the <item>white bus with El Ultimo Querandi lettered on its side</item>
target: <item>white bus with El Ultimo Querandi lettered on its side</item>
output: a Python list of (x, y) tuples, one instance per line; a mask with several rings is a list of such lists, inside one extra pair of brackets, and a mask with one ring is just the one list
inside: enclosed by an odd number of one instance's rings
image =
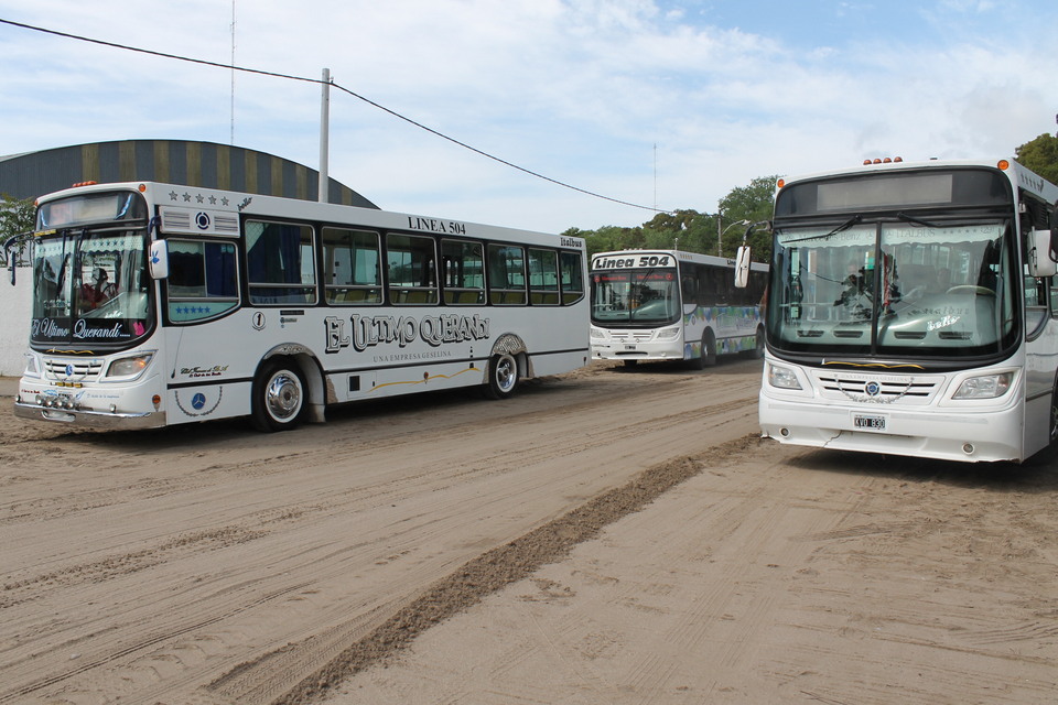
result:
[[(17, 415), (156, 427), (587, 362), (584, 241), (156, 183), (39, 200)], [(13, 275), (13, 271), (12, 271)]]

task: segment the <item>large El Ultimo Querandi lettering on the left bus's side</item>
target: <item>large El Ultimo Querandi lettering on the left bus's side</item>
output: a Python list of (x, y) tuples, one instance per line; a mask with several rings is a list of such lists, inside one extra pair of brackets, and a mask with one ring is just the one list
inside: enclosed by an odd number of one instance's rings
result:
[(488, 339), (488, 321), (477, 315), (456, 314), (423, 316), (420, 319), (412, 316), (397, 318), (353, 314), (349, 317), (352, 324), (352, 335), (349, 335), (346, 332), (344, 318), (327, 316), (324, 319), (325, 350), (337, 352), (352, 345), (354, 350), (363, 352), (377, 345), (395, 343), (402, 348), (415, 340), (422, 340), (431, 347), (466, 340), (485, 340)]

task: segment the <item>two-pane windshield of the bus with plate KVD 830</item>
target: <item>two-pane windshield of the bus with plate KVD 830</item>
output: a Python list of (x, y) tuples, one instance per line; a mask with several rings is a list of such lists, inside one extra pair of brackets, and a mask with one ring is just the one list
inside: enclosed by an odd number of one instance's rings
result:
[[(1017, 338), (1012, 224), (842, 216), (777, 229), (769, 340), (790, 352), (965, 357)], [(850, 223), (856, 225), (849, 225)]]

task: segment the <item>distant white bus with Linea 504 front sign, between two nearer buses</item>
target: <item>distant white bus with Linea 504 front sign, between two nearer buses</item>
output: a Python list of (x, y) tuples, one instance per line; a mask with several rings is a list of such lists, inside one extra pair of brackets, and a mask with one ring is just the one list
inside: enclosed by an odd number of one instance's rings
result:
[(685, 360), (701, 369), (717, 355), (764, 352), (760, 300), (767, 267), (755, 263), (744, 289), (734, 261), (678, 250), (592, 256), (592, 357)]

